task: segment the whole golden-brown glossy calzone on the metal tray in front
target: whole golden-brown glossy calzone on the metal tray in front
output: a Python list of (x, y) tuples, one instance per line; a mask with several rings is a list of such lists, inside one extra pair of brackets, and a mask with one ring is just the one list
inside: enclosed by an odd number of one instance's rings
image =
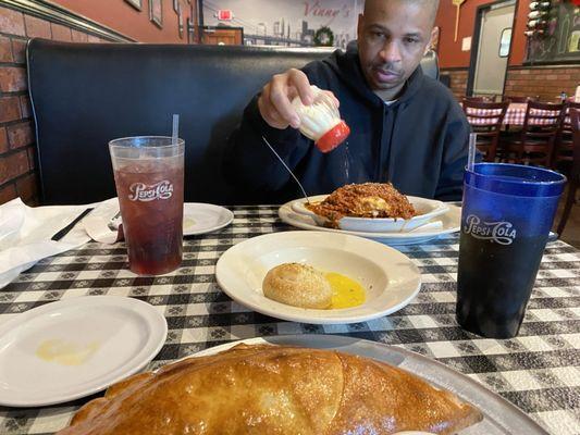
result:
[(400, 369), (284, 346), (239, 345), (110, 389), (60, 434), (453, 434), (481, 420)]

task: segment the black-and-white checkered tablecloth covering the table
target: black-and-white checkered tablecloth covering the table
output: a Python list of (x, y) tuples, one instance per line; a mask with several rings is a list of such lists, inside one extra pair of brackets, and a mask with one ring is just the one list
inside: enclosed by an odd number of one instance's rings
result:
[[(455, 322), (457, 235), (399, 249), (420, 269), (422, 287), (403, 310), (366, 323), (311, 325), (279, 321), (233, 302), (215, 283), (222, 252), (249, 237), (288, 231), (275, 207), (236, 207), (229, 227), (188, 238), (181, 269), (160, 277), (127, 270), (124, 245), (87, 244), (46, 259), (0, 290), (0, 323), (39, 304), (84, 295), (129, 296), (162, 312), (166, 343), (148, 369), (240, 338), (340, 334), (434, 358), (517, 405), (550, 433), (580, 431), (580, 251), (557, 241), (545, 252), (517, 338), (482, 339)], [(49, 434), (95, 396), (47, 408), (0, 407), (1, 434)]]

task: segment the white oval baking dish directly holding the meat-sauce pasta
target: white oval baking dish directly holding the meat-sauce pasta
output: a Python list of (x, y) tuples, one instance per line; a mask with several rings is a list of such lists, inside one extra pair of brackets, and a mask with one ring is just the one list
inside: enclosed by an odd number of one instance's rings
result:
[[(321, 202), (326, 199), (328, 195), (317, 195), (310, 197), (312, 202)], [(351, 217), (345, 216), (338, 220), (337, 224), (341, 229), (366, 233), (394, 233), (394, 232), (409, 232), (431, 221), (447, 210), (448, 206), (445, 202), (434, 199), (407, 197), (409, 202), (417, 211), (416, 216), (411, 219), (394, 219), (394, 217)], [(308, 210), (306, 207), (306, 198), (296, 199), (292, 202), (291, 208), (296, 213), (307, 214), (313, 219), (319, 226), (324, 226), (329, 220), (320, 216), (317, 213)]]

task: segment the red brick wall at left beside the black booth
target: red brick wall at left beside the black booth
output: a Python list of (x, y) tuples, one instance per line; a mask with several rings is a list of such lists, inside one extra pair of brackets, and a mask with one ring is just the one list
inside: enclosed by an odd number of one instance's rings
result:
[(61, 24), (0, 7), (0, 203), (21, 197), (38, 202), (35, 135), (26, 77), (29, 38), (101, 42)]

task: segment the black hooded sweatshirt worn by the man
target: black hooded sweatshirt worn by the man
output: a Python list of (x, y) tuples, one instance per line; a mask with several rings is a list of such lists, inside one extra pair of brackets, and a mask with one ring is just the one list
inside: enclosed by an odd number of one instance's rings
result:
[(269, 126), (256, 96), (230, 138), (224, 159), (229, 182), (244, 191), (246, 199), (280, 203), (301, 196), (262, 136), (308, 195), (330, 194), (348, 183), (390, 181), (406, 195), (461, 198), (470, 127), (444, 85), (423, 75), (419, 66), (399, 98), (387, 104), (368, 86), (356, 49), (337, 50), (303, 71), (310, 84), (334, 92), (350, 136), (333, 151), (322, 153), (297, 129)]

